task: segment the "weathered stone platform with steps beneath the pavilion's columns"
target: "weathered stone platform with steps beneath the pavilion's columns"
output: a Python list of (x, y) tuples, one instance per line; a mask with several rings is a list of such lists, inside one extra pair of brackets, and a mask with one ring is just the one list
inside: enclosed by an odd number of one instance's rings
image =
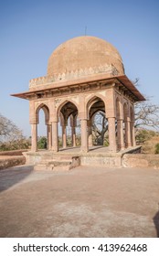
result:
[(125, 154), (139, 153), (141, 146), (131, 147), (123, 151), (112, 153), (108, 147), (92, 146), (90, 151), (83, 153), (80, 147), (60, 149), (58, 152), (40, 150), (26, 152), (26, 164), (35, 165), (35, 170), (56, 170), (62, 168), (69, 170), (78, 165), (122, 167), (122, 156)]

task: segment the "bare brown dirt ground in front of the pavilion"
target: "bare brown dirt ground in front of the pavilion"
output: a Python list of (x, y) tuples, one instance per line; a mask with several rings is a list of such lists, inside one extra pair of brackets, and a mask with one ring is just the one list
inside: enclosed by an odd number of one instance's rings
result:
[(22, 165), (0, 191), (0, 237), (159, 237), (159, 170)]

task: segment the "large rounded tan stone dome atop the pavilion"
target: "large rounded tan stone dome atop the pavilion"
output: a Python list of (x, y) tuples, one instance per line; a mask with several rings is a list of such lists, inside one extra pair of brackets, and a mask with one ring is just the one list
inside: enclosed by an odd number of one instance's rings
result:
[(124, 74), (122, 58), (116, 48), (98, 37), (74, 37), (59, 45), (48, 59), (48, 76), (113, 65)]

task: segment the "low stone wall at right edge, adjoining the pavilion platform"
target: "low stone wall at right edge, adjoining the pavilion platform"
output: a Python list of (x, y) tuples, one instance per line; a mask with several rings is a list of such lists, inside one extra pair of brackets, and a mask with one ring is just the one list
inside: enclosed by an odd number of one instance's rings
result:
[(122, 166), (159, 169), (159, 155), (125, 154), (122, 156)]

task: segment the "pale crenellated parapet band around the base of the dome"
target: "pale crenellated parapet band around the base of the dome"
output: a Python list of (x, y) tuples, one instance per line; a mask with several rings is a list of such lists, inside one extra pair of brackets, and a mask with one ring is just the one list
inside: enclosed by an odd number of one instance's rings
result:
[(75, 71), (70, 71), (67, 73), (57, 74), (54, 76), (45, 76), (39, 77), (37, 79), (32, 79), (29, 81), (29, 88), (34, 88), (37, 85), (44, 85), (47, 83), (57, 82), (57, 81), (65, 81), (65, 80), (76, 80), (82, 77), (86, 77), (89, 75), (106, 73), (110, 74), (111, 76), (118, 75), (118, 70), (111, 64), (99, 67), (93, 67), (90, 69), (78, 69)]

